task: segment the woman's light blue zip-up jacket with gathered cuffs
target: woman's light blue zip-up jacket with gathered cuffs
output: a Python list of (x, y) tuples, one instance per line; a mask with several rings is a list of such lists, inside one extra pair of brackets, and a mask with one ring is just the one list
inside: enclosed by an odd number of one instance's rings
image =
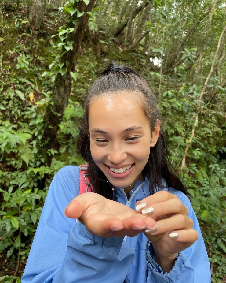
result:
[[(84, 225), (64, 215), (67, 204), (79, 194), (79, 183), (77, 166), (65, 166), (53, 178), (22, 283), (123, 283), (125, 278), (130, 283), (211, 282), (199, 223), (184, 193), (169, 188), (188, 207), (199, 239), (179, 253), (173, 269), (163, 274), (143, 233), (104, 239), (89, 234)], [(137, 181), (129, 200), (123, 189), (114, 192), (119, 202), (135, 209), (136, 202), (149, 195), (148, 181)]]

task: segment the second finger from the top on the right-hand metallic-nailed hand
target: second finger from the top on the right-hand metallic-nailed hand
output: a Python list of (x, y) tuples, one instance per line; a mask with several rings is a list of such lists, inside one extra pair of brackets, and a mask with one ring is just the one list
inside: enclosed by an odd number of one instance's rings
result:
[(180, 201), (180, 199), (173, 198), (167, 201), (155, 203), (152, 206), (147, 206), (141, 210), (141, 213), (153, 218), (172, 213), (188, 215), (188, 208)]

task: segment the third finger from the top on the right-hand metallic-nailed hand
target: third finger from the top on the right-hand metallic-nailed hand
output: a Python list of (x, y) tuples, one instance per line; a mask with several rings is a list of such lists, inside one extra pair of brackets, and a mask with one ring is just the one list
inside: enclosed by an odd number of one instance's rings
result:
[(179, 229), (192, 229), (193, 221), (191, 218), (181, 214), (175, 214), (169, 218), (156, 221), (157, 230), (148, 231), (151, 235), (158, 235), (166, 233), (167, 231), (174, 231)]

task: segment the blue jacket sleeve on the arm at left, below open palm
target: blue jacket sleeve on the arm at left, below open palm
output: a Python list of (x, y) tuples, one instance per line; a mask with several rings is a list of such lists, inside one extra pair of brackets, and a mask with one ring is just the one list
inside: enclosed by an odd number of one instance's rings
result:
[(66, 166), (53, 178), (22, 283), (124, 281), (134, 257), (126, 242), (93, 236), (64, 215), (67, 204), (79, 194), (79, 183), (77, 166)]

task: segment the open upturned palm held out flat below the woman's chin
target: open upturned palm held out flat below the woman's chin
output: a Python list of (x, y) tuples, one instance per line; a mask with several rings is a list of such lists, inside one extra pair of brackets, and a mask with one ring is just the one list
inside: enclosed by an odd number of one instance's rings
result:
[(89, 233), (102, 238), (133, 237), (155, 226), (154, 219), (93, 192), (76, 196), (64, 213), (67, 217), (78, 218)]

